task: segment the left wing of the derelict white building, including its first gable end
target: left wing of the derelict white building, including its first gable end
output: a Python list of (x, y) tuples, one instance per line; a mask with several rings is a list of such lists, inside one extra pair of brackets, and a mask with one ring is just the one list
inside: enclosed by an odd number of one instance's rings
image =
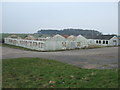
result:
[(6, 44), (21, 46), (33, 50), (48, 51), (66, 49), (66, 39), (61, 35), (55, 35), (51, 38), (38, 38), (31, 40), (18, 38), (5, 38), (4, 40)]

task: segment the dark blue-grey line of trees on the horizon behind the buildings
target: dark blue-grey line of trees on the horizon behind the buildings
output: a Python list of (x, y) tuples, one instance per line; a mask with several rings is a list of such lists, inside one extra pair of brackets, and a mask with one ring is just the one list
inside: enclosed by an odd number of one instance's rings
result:
[(37, 33), (39, 34), (46, 34), (46, 35), (55, 35), (55, 34), (60, 34), (60, 35), (83, 35), (87, 37), (91, 36), (98, 36), (102, 35), (101, 32), (96, 31), (96, 30), (83, 30), (83, 29), (63, 29), (63, 30), (39, 30)]

